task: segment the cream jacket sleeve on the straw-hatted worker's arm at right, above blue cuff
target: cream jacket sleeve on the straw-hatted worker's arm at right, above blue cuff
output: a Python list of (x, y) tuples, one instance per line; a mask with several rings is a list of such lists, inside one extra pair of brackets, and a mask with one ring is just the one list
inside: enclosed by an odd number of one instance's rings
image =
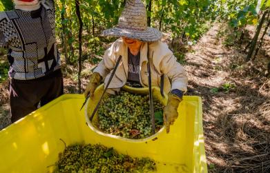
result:
[(177, 62), (171, 50), (167, 48), (166, 52), (162, 61), (160, 61), (160, 72), (166, 74), (171, 80), (171, 91), (177, 89), (186, 92), (188, 83), (186, 71), (182, 65)]

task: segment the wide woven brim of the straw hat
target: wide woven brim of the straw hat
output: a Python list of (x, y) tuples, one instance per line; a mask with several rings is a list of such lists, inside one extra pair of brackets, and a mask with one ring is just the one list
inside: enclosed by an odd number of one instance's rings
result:
[(122, 28), (110, 28), (102, 32), (104, 36), (128, 37), (144, 42), (158, 41), (162, 39), (162, 32), (155, 28), (148, 27), (146, 30), (128, 30)]

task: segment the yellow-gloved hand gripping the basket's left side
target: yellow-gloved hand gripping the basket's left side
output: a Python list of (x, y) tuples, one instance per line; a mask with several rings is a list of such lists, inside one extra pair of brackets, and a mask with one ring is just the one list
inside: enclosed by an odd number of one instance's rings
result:
[(100, 74), (97, 72), (94, 72), (92, 76), (90, 77), (86, 90), (84, 91), (84, 96), (87, 97), (88, 94), (90, 94), (90, 98), (92, 98), (95, 92), (95, 89), (97, 88), (101, 80), (102, 80), (102, 77), (100, 76)]

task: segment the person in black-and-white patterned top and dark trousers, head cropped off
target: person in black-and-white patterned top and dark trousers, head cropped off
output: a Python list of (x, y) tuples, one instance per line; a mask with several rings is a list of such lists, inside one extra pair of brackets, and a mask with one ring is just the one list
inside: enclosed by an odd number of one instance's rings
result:
[(14, 0), (0, 12), (0, 48), (8, 50), (12, 123), (63, 94), (53, 0)]

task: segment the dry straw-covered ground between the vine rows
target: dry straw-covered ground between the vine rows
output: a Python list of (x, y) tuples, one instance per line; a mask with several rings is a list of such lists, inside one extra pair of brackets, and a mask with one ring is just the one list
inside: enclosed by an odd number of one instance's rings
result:
[[(222, 27), (221, 27), (222, 26)], [(209, 172), (270, 172), (270, 37), (254, 63), (244, 63), (242, 47), (226, 47), (224, 24), (215, 24), (191, 46), (184, 68), (189, 95), (202, 96), (206, 159)], [(254, 34), (250, 27), (247, 40)], [(92, 68), (88, 63), (84, 68)], [(75, 93), (76, 68), (66, 66), (66, 93)], [(83, 72), (85, 86), (89, 74)], [(0, 86), (0, 129), (10, 123), (8, 82)]]

